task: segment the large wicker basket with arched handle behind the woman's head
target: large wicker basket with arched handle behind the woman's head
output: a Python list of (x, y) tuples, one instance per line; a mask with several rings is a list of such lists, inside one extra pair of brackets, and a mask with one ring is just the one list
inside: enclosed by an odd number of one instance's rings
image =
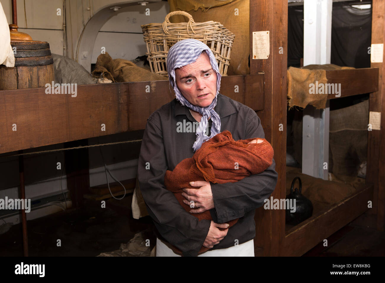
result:
[[(169, 18), (173, 15), (186, 16), (189, 21), (171, 23)], [(226, 76), (234, 33), (224, 28), (221, 23), (213, 21), (196, 23), (189, 13), (174, 11), (167, 14), (163, 23), (148, 23), (141, 27), (151, 72), (167, 77), (166, 60), (171, 46), (183, 39), (197, 39), (210, 47), (217, 60), (219, 72)]]

